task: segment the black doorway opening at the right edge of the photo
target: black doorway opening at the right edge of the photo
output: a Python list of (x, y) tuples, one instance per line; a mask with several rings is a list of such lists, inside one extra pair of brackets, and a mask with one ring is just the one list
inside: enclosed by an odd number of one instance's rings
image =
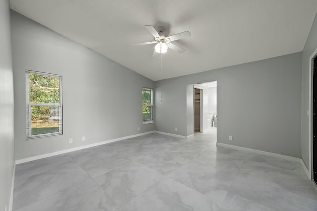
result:
[(313, 60), (313, 116), (312, 116), (312, 147), (313, 147), (313, 179), (317, 184), (317, 56)]

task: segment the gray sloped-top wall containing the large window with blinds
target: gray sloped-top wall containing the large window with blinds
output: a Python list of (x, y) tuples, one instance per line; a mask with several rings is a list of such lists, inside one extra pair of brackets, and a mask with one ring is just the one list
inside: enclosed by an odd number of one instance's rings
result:
[[(16, 159), (154, 130), (142, 124), (142, 87), (152, 80), (14, 11), (11, 21)], [(25, 140), (26, 69), (63, 76), (63, 135)]]

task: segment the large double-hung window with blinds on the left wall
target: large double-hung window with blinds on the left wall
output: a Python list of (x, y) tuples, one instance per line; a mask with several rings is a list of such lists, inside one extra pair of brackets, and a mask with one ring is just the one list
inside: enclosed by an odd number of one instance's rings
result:
[(62, 76), (26, 71), (26, 137), (63, 133)]

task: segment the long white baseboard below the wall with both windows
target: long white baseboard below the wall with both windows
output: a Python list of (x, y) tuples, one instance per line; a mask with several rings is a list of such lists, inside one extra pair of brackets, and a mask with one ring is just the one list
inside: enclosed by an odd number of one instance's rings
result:
[(73, 151), (77, 151), (77, 150), (81, 150), (81, 149), (95, 147), (95, 146), (99, 146), (99, 145), (103, 145), (103, 144), (112, 143), (115, 141), (121, 141), (121, 140), (128, 139), (128, 138), (134, 138), (134, 137), (138, 137), (141, 135), (147, 135), (147, 134), (154, 133), (154, 132), (155, 131), (144, 132), (144, 133), (139, 133), (139, 134), (135, 134), (135, 135), (129, 135), (129, 136), (115, 138), (115, 139), (111, 139), (111, 140), (107, 140), (107, 141), (102, 141), (102, 142), (98, 142), (98, 143), (94, 143), (94, 144), (88, 144), (88, 145), (84, 145), (84, 146), (80, 146), (80, 147), (75, 147), (75, 148), (71, 148), (71, 149), (51, 152), (51, 153), (37, 155), (37, 156), (29, 157), (29, 158), (23, 158), (23, 159), (16, 160), (15, 164), (21, 164), (21, 163), (34, 161), (34, 160), (38, 160), (38, 159), (42, 159), (42, 158), (47, 158), (47, 157), (51, 157), (51, 156), (55, 156), (55, 155), (60, 155), (60, 154), (68, 153), (68, 152), (73, 152)]

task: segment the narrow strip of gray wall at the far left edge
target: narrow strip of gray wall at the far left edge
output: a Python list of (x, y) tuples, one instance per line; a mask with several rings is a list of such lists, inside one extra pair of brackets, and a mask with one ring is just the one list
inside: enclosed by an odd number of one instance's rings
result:
[(9, 209), (14, 168), (14, 101), (10, 9), (0, 0), (0, 210)]

